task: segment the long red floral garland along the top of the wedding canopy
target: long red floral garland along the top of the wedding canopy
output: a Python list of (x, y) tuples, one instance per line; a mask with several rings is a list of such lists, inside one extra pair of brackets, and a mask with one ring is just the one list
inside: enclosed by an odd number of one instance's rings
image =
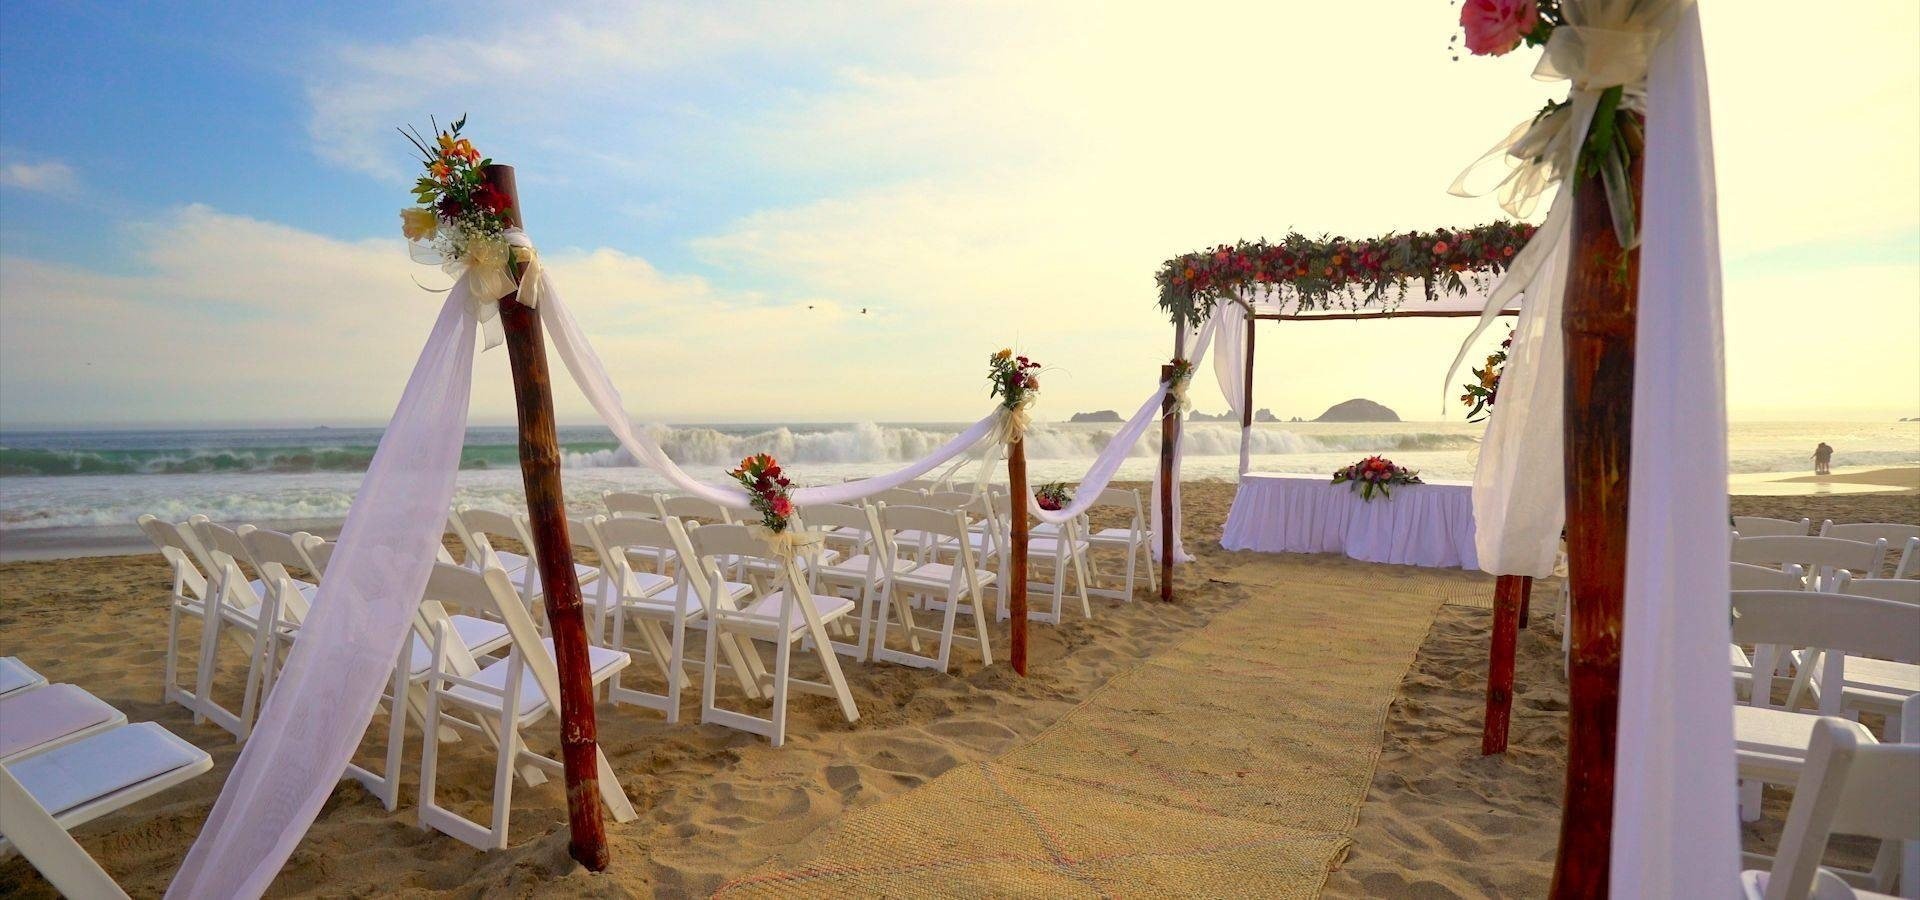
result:
[(1507, 221), (1365, 240), (1292, 232), (1279, 242), (1242, 240), (1167, 259), (1154, 282), (1160, 309), (1177, 326), (1194, 326), (1219, 299), (1242, 294), (1290, 297), (1296, 309), (1392, 309), (1407, 299), (1415, 278), (1425, 282), (1427, 299), (1467, 294), (1503, 272), (1532, 236), (1532, 225)]

